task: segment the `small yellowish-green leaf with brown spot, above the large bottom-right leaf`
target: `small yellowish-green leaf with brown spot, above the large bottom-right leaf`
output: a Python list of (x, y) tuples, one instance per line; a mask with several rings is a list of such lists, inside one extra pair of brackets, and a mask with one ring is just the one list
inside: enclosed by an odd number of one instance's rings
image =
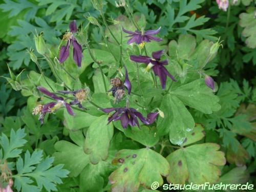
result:
[(193, 130), (187, 131), (185, 133), (186, 140), (183, 142), (182, 146), (195, 143), (199, 140), (201, 140), (204, 137), (204, 128), (201, 124), (196, 123), (196, 126)]

